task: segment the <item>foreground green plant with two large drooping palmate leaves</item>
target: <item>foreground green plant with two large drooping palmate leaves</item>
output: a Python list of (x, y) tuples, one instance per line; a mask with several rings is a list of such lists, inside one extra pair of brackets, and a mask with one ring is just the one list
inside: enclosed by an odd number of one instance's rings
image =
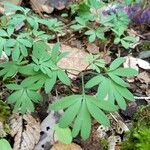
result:
[[(104, 112), (116, 111), (115, 101), (121, 109), (125, 109), (125, 99), (134, 100), (132, 93), (127, 89), (129, 84), (120, 76), (131, 77), (137, 75), (137, 71), (120, 67), (124, 61), (124, 58), (117, 58), (109, 67), (106, 67), (97, 57), (93, 59), (91, 66), (95, 65), (96, 70), (99, 70), (85, 85), (82, 75), (82, 94), (63, 97), (50, 105), (50, 109), (54, 111), (65, 110), (59, 120), (60, 127), (66, 128), (71, 125), (73, 137), (80, 132), (81, 137), (87, 139), (91, 131), (92, 117), (100, 124), (108, 126), (109, 119)], [(98, 85), (97, 93), (93, 96), (87, 95), (85, 88), (96, 85)]]

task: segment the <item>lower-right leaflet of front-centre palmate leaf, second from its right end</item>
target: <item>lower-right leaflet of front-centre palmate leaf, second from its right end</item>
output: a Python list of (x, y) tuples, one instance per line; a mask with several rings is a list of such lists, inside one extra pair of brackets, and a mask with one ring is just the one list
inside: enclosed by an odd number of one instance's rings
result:
[(108, 117), (96, 105), (88, 100), (86, 101), (86, 104), (92, 117), (95, 118), (100, 124), (104, 126), (108, 126), (110, 124)]

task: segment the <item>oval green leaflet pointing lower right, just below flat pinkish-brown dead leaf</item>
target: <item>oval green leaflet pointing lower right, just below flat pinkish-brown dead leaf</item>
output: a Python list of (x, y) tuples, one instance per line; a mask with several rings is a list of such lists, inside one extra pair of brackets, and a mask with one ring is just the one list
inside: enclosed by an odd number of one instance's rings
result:
[(58, 76), (59, 80), (62, 83), (66, 84), (66, 85), (70, 85), (71, 84), (71, 81), (70, 81), (69, 77), (67, 76), (67, 74), (65, 73), (65, 71), (58, 70), (57, 71), (57, 76)]

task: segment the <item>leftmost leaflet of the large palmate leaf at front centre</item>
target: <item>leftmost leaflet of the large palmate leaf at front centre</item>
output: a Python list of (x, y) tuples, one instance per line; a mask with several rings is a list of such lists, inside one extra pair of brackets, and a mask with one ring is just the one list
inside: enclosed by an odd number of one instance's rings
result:
[(65, 109), (65, 108), (73, 105), (74, 103), (76, 103), (78, 100), (80, 101), (81, 99), (82, 99), (81, 95), (70, 95), (67, 97), (63, 97), (63, 98), (55, 101), (51, 105), (49, 105), (49, 109), (52, 109), (54, 111)]

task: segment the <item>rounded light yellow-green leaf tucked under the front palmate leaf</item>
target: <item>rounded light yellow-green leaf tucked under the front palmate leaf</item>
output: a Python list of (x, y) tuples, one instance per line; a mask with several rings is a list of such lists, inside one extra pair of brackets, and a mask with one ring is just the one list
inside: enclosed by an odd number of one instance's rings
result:
[(72, 135), (70, 128), (61, 128), (59, 124), (56, 124), (54, 131), (58, 140), (64, 144), (70, 144), (72, 142)]

